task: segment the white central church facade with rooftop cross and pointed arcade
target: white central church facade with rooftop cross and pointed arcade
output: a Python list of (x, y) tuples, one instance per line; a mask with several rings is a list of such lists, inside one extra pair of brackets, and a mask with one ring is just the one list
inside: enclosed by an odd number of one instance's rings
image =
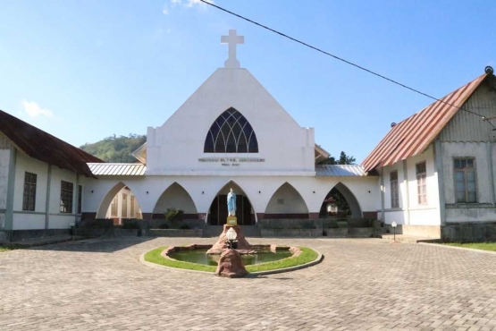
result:
[[(225, 38), (240, 40), (230, 32)], [(367, 176), (359, 165), (316, 165), (329, 154), (315, 144), (314, 129), (300, 127), (240, 67), (234, 46), (223, 68), (163, 125), (147, 129), (147, 143), (134, 153), (143, 164), (139, 172), (126, 175), (105, 172), (120, 165), (90, 165), (99, 168), (98, 180), (86, 184), (85, 216), (105, 216), (115, 191), (128, 187), (144, 218), (163, 218), (167, 208), (177, 208), (185, 217), (222, 225), (231, 188), (239, 197), (241, 225), (317, 218), (337, 184), (354, 216), (376, 216), (377, 177)]]

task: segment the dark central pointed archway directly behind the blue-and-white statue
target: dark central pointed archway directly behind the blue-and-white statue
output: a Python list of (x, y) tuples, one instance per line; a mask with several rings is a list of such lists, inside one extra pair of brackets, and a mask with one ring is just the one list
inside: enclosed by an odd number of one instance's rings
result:
[(247, 194), (233, 181), (226, 183), (215, 195), (208, 209), (207, 223), (209, 225), (224, 225), (227, 219), (227, 193), (230, 190), (236, 193), (236, 217), (238, 225), (255, 225), (256, 214)]

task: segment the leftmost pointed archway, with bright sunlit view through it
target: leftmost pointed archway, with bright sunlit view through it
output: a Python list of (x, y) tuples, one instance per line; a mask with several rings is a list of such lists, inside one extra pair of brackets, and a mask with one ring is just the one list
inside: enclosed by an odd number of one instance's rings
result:
[(138, 198), (123, 182), (108, 191), (97, 211), (97, 218), (111, 218), (113, 224), (122, 225), (124, 219), (142, 219)]

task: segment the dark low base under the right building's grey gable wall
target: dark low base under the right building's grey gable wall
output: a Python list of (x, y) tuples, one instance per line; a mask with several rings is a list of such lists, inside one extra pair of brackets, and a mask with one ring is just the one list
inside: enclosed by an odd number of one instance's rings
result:
[(494, 242), (496, 222), (450, 223), (441, 226), (442, 242)]

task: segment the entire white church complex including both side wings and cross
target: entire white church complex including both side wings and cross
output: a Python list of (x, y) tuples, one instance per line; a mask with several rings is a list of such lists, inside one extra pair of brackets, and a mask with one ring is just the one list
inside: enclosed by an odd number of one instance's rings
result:
[[(491, 68), (442, 99), (451, 106), (436, 102), (394, 125), (362, 165), (319, 165), (329, 153), (314, 129), (299, 126), (240, 66), (244, 38), (230, 30), (222, 42), (224, 66), (165, 123), (148, 127), (137, 163), (104, 163), (0, 112), (0, 232), (12, 238), (63, 231), (81, 219), (164, 218), (167, 208), (223, 225), (231, 188), (240, 225), (315, 220), (333, 188), (351, 216), (396, 221), (404, 233), (435, 237), (443, 228), (457, 232), (450, 224), (496, 221)], [(458, 107), (483, 108), (487, 118)], [(43, 157), (39, 141), (30, 146), (37, 136), (26, 132), (45, 134), (43, 148), (55, 157)]]

